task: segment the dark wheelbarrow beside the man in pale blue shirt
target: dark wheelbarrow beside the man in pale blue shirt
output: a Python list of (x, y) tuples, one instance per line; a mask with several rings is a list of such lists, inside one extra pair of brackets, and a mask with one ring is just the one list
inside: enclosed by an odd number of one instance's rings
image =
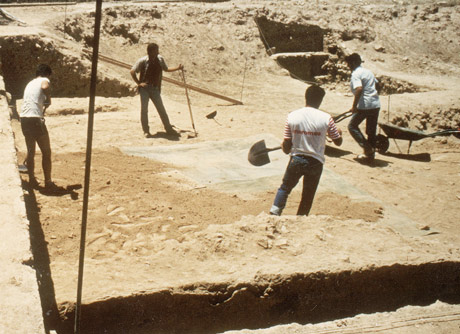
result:
[(400, 126), (396, 126), (393, 124), (388, 123), (378, 123), (380, 129), (385, 133), (377, 135), (377, 152), (385, 153), (390, 146), (389, 138), (392, 139), (401, 139), (401, 140), (408, 140), (409, 147), (407, 148), (407, 153), (409, 154), (410, 147), (412, 142), (425, 139), (425, 138), (432, 138), (437, 136), (449, 136), (454, 135), (455, 137), (460, 139), (460, 129), (447, 129), (441, 130), (433, 133), (425, 133), (423, 131), (411, 130), (408, 128), (403, 128)]

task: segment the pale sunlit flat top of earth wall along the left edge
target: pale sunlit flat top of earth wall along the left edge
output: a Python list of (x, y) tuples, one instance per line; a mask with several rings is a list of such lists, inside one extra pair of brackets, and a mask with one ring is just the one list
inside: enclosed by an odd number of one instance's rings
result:
[(45, 333), (14, 134), (0, 77), (0, 333)]

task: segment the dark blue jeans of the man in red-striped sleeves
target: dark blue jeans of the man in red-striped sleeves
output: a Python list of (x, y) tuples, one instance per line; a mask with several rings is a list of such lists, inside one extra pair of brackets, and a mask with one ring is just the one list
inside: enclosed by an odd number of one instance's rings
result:
[(302, 198), (297, 210), (297, 215), (308, 215), (313, 204), (313, 198), (315, 197), (322, 172), (323, 164), (313, 157), (291, 157), (286, 172), (284, 173), (283, 184), (276, 193), (270, 213), (277, 216), (281, 215), (291, 190), (294, 189), (303, 176)]

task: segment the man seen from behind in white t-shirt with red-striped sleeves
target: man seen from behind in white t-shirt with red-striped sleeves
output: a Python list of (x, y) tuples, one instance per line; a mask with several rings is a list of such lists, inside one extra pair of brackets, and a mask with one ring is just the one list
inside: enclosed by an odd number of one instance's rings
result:
[(306, 107), (291, 112), (287, 117), (281, 147), (291, 158), (270, 209), (272, 215), (281, 215), (291, 190), (302, 176), (302, 198), (297, 215), (308, 215), (323, 172), (326, 136), (337, 146), (342, 145), (342, 131), (329, 114), (318, 110), (325, 94), (319, 86), (308, 87), (305, 92)]

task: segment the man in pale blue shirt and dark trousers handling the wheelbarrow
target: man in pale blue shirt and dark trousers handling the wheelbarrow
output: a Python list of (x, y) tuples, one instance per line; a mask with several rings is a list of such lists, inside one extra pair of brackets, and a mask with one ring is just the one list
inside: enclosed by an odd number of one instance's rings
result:
[[(364, 155), (358, 155), (359, 160), (374, 160), (375, 147), (377, 145), (377, 122), (380, 111), (380, 99), (378, 94), (379, 83), (374, 74), (361, 66), (361, 57), (353, 53), (345, 57), (350, 67), (350, 88), (355, 96), (350, 111), (353, 112), (348, 130), (353, 139), (364, 150)], [(367, 139), (359, 129), (359, 125), (366, 120)]]

